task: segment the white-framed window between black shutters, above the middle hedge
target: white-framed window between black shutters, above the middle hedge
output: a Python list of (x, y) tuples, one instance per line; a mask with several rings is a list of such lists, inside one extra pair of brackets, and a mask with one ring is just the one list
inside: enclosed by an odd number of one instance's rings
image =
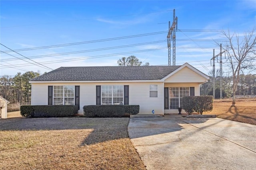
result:
[(124, 103), (123, 85), (102, 85), (102, 105), (120, 105)]

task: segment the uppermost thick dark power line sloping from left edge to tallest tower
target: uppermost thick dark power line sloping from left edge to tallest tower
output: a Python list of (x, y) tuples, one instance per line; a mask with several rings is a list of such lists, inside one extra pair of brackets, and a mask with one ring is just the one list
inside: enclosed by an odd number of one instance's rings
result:
[[(91, 40), (91, 41), (85, 41), (85, 42), (65, 43), (65, 44), (59, 44), (59, 45), (48, 45), (48, 46), (42, 46), (42, 47), (15, 49), (15, 51), (27, 51), (27, 50), (53, 48), (53, 47), (64, 47), (64, 46), (69, 46), (69, 45), (80, 45), (80, 44), (85, 44), (85, 43), (106, 42), (106, 41), (120, 40), (120, 39), (126, 39), (126, 38), (136, 38), (136, 37), (142, 37), (142, 36), (152, 36), (152, 35), (164, 34), (164, 33), (167, 33), (167, 32), (166, 31), (152, 32), (152, 33), (146, 33), (146, 34), (137, 34), (137, 35), (134, 35), (134, 36), (123, 36), (123, 37), (116, 37), (116, 38), (106, 38), (106, 39), (101, 39), (101, 40)], [(12, 50), (10, 50), (10, 51), (3, 51), (3, 52), (9, 53), (9, 52), (12, 52)]]

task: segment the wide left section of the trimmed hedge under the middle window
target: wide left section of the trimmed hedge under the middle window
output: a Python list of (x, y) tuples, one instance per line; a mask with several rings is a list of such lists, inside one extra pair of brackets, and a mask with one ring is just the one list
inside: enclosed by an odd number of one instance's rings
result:
[(84, 106), (85, 117), (122, 117), (124, 105), (88, 105)]

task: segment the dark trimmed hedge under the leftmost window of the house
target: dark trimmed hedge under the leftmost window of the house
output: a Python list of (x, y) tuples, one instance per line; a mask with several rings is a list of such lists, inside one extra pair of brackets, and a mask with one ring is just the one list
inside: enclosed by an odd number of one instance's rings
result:
[(70, 117), (78, 113), (75, 105), (28, 105), (20, 106), (24, 117)]

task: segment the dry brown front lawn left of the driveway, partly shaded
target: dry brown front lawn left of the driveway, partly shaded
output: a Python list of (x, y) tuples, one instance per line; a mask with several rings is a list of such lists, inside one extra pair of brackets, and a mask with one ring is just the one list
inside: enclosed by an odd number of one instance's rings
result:
[(128, 138), (129, 118), (0, 121), (0, 169), (145, 169)]

